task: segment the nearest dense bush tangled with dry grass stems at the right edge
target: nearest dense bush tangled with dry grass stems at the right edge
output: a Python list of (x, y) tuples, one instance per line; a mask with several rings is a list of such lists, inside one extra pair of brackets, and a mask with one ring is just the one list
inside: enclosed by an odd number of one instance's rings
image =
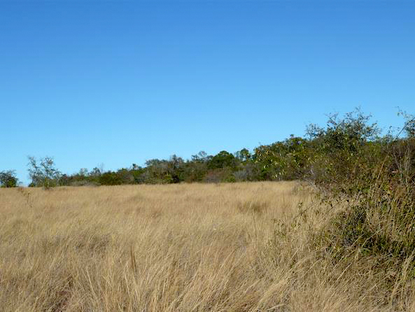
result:
[(415, 139), (386, 143), (379, 155), (371, 174), (349, 180), (357, 201), (337, 216), (330, 237), (337, 250), (405, 260), (415, 251)]

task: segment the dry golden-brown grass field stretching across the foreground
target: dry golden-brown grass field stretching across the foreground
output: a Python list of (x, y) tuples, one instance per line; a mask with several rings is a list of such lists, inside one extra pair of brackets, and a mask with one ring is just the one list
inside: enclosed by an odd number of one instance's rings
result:
[(1, 189), (0, 311), (414, 310), (317, 255), (317, 205), (295, 182)]

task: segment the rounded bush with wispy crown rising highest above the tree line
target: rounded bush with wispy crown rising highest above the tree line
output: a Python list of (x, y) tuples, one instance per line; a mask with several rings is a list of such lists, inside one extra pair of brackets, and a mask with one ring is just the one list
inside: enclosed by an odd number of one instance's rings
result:
[(370, 185), (365, 182), (381, 157), (382, 144), (377, 138), (379, 127), (369, 120), (370, 115), (356, 110), (342, 119), (329, 115), (325, 128), (309, 125), (312, 153), (306, 176), (325, 188), (342, 191), (352, 184), (358, 189)]

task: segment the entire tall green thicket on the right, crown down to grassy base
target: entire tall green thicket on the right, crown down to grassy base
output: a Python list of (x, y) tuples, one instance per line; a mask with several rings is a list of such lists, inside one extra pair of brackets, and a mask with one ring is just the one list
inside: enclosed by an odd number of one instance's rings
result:
[(378, 136), (361, 113), (309, 128), (316, 151), (309, 174), (325, 194), (322, 206), (346, 203), (313, 241), (345, 271), (377, 274), (374, 287), (386, 290), (389, 304), (405, 299), (415, 277), (415, 119), (402, 115), (405, 126), (395, 136)]

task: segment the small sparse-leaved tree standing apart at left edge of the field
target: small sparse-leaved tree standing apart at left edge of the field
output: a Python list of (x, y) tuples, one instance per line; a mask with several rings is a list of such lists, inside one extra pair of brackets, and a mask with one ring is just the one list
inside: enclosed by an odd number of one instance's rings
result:
[(43, 186), (45, 189), (58, 185), (61, 173), (55, 167), (52, 157), (44, 157), (37, 162), (35, 157), (29, 156), (29, 177), (31, 186)]

